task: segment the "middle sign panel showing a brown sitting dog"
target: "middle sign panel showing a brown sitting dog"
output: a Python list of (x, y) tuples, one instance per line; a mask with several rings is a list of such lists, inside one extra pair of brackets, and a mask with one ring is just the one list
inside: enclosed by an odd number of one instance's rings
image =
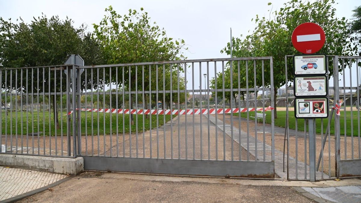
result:
[(295, 96), (327, 96), (326, 76), (304, 76), (293, 78)]

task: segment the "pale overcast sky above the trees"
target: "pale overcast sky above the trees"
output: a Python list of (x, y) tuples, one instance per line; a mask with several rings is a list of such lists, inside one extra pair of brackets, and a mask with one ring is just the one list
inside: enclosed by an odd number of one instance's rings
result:
[[(268, 2), (273, 4), (268, 6)], [(225, 53), (221, 54), (220, 50), (230, 40), (230, 27), (234, 37), (247, 35), (248, 31), (255, 27), (251, 19), (255, 18), (256, 14), (260, 17), (268, 17), (270, 9), (279, 10), (285, 2), (287, 0), (0, 0), (0, 16), (13, 20), (22, 17), (26, 22), (30, 22), (33, 16), (41, 16), (42, 13), (48, 17), (68, 16), (74, 20), (75, 26), (84, 23), (88, 25), (88, 30), (92, 31), (91, 24), (101, 21), (105, 14), (104, 9), (109, 5), (112, 5), (119, 14), (126, 14), (129, 9), (140, 10), (140, 7), (143, 7), (153, 22), (164, 27), (169, 37), (184, 39), (189, 47), (189, 51), (185, 53), (188, 59), (210, 59), (227, 57)], [(338, 3), (335, 4), (336, 16), (347, 19), (352, 18), (351, 10), (360, 5), (360, 1), (357, 0), (336, 0), (336, 3)], [(190, 78), (191, 75), (189, 72), (188, 74), (187, 78)], [(212, 77), (214, 73), (209, 75)], [(195, 75), (195, 78), (199, 78), (199, 74)], [(195, 83), (198, 87), (199, 82), (195, 81)], [(202, 83), (204, 86), (204, 81)], [(187, 86), (191, 87), (190, 84)]]

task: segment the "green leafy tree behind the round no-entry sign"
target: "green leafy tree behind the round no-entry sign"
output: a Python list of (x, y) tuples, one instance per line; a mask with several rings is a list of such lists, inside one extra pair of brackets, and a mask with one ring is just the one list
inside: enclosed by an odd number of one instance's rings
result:
[[(235, 57), (273, 56), (275, 118), (277, 118), (277, 89), (286, 83), (284, 56), (299, 54), (291, 43), (292, 31), (298, 25), (304, 22), (314, 22), (323, 28), (326, 34), (326, 43), (319, 53), (353, 55), (357, 52), (355, 38), (349, 29), (349, 22), (344, 17), (337, 18), (335, 16), (334, 3), (334, 0), (320, 0), (312, 3), (291, 0), (284, 4), (284, 8), (271, 12), (269, 19), (256, 15), (256, 27), (253, 33), (245, 38), (241, 36), (232, 39), (234, 45), (232, 52)], [(230, 43), (221, 52), (230, 54)], [(260, 63), (257, 65), (257, 81), (262, 81)], [(291, 60), (287, 61), (287, 66), (292, 67)], [(288, 71), (288, 75), (292, 75), (292, 68), (288, 68)], [(332, 65), (329, 66), (329, 72), (330, 75), (333, 74)], [(270, 86), (269, 64), (265, 64), (264, 73), (265, 85)], [(292, 77), (288, 77), (288, 81), (292, 80)]]

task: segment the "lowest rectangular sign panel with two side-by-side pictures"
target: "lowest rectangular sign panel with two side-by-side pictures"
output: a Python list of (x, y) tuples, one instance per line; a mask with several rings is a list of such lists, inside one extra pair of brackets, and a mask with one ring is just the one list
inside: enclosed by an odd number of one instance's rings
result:
[(296, 118), (327, 118), (328, 116), (327, 98), (304, 98), (295, 99)]

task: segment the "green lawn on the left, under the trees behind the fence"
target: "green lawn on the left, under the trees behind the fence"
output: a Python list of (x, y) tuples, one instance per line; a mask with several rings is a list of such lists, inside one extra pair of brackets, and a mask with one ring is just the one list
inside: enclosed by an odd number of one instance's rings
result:
[[(23, 121), (21, 122), (21, 114), (23, 115)], [(16, 115), (17, 115), (17, 133), (16, 133)], [(62, 125), (63, 125), (63, 135), (66, 135), (67, 131), (67, 118), (66, 118), (66, 112), (59, 112), (59, 126), (60, 128), (57, 129), (56, 134), (61, 135), (61, 115), (62, 116)], [(26, 126), (26, 116), (28, 116), (28, 127)], [(136, 115), (134, 116), (134, 125), (131, 125), (131, 131), (136, 131)], [(175, 117), (176, 115), (173, 115)], [(30, 112), (12, 112), (12, 134), (18, 134), (21, 133), (23, 135), (26, 135), (26, 128), (28, 129), (28, 134), (32, 133), (32, 130), (34, 129), (35, 132), (43, 132), (43, 125), (45, 125), (45, 135), (49, 135), (49, 112), (45, 112), (45, 116), (43, 117), (43, 112), (39, 112), (39, 122), (38, 122), (38, 112), (34, 112), (31, 114)], [(6, 134), (10, 135), (10, 112), (8, 112), (8, 116), (6, 119)], [(72, 115), (71, 115), (72, 117)], [(33, 119), (34, 118), (34, 119)], [(54, 118), (53, 113), (50, 114), (50, 134), (55, 135), (55, 125), (54, 125)], [(165, 115), (165, 120), (168, 122), (171, 118), (171, 115)], [(91, 134), (92, 130), (92, 121), (91, 121), (91, 112), (87, 112), (87, 121), (85, 121), (85, 112), (81, 112), (81, 134), (85, 135), (85, 122), (87, 123), (87, 134)], [(5, 112), (1, 114), (1, 134), (5, 134)], [(34, 121), (34, 128), (32, 126), (32, 121)], [(144, 130), (149, 130), (149, 118), (145, 118), (144, 116)], [(39, 130), (38, 130), (38, 124), (39, 124)], [(158, 124), (159, 126), (163, 125), (163, 115), (158, 115)], [(70, 121), (70, 130), (72, 130), (72, 121)], [(112, 126), (112, 133), (116, 133), (117, 130), (117, 115), (112, 113), (112, 125), (110, 125), (110, 113), (105, 113), (105, 134), (110, 133), (110, 126)], [(152, 115), (152, 129), (157, 127), (157, 116)], [(129, 133), (129, 114), (124, 116), (124, 132)], [(22, 131), (21, 131), (22, 130)], [(138, 131), (143, 131), (143, 115), (138, 115)], [(93, 112), (93, 133), (98, 134), (98, 122), (97, 122), (97, 113)], [(123, 133), (123, 115), (118, 114), (118, 133)], [(104, 134), (104, 113), (99, 113), (99, 134)], [(42, 135), (42, 134), (41, 134)]]

